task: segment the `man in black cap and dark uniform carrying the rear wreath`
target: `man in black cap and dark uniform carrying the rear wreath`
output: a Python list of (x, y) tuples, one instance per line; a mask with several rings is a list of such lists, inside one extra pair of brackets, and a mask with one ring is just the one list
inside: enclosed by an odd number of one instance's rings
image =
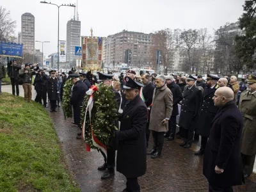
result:
[[(81, 129), (81, 106), (83, 105), (84, 95), (89, 88), (79, 79), (78, 74), (71, 74), (70, 78), (74, 84), (70, 97), (70, 104), (72, 104), (74, 111), (74, 124)], [(81, 138), (81, 133), (77, 134), (77, 139)]]

